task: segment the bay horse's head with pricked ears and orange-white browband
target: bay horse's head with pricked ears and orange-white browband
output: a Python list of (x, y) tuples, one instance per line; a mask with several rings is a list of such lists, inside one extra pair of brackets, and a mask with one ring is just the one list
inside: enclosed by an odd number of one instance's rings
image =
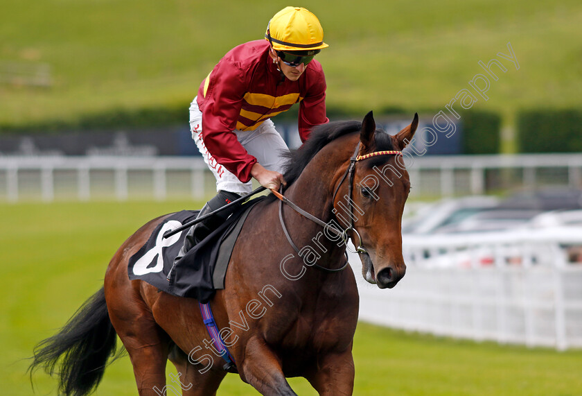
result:
[[(361, 238), (362, 275), (380, 289), (392, 288), (406, 272), (402, 255), (401, 221), (410, 180), (400, 152), (418, 127), (418, 114), (409, 126), (390, 136), (376, 130), (372, 112), (362, 122), (360, 149), (353, 176), (352, 241)], [(338, 197), (341, 199), (342, 197)]]

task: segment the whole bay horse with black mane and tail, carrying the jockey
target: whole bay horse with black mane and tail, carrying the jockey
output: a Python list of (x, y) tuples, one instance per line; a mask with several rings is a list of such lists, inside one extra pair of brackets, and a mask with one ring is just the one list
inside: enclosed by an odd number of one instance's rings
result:
[[(319, 126), (290, 153), (285, 172), (285, 197), (326, 223), (348, 228), (346, 234), (360, 246), (364, 279), (381, 289), (394, 287), (406, 270), (400, 222), (410, 182), (394, 150), (405, 148), (417, 126), (415, 114), (409, 126), (390, 136), (376, 130), (371, 112), (362, 123)], [(357, 162), (351, 161), (355, 155)], [(170, 386), (183, 395), (215, 395), (227, 372), (207, 341), (197, 300), (127, 277), (128, 259), (167, 216), (123, 243), (103, 288), (37, 346), (31, 372), (43, 366), (53, 375), (58, 366), (60, 391), (87, 395), (103, 377), (117, 335), (130, 355), (139, 395), (166, 395)], [(287, 206), (282, 218), (284, 226), (273, 195), (247, 216), (225, 288), (211, 300), (220, 334), (240, 378), (263, 395), (296, 395), (285, 377), (305, 377), (320, 395), (351, 395), (359, 296), (353, 272), (338, 270), (346, 263), (346, 245)], [(303, 247), (303, 255), (294, 255), (289, 241)], [(315, 261), (337, 271), (319, 270)], [(168, 360), (179, 374), (166, 387)]]

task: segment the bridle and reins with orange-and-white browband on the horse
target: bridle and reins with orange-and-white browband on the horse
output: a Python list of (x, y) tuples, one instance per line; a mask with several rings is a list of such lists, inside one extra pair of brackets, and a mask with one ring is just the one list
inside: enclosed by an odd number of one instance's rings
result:
[[(333, 200), (332, 203), (335, 203), (335, 197), (337, 196), (337, 192), (340, 191), (340, 187), (342, 187), (342, 184), (344, 183), (344, 180), (346, 180), (346, 178), (348, 178), (349, 180), (349, 184), (348, 184), (348, 207), (349, 207), (349, 218), (350, 218), (350, 222), (349, 222), (349, 227), (347, 227), (345, 230), (337, 230), (337, 228), (333, 227), (332, 225), (325, 223), (324, 221), (322, 221), (321, 219), (313, 216), (312, 214), (309, 214), (308, 212), (306, 212), (305, 210), (301, 209), (300, 207), (298, 207), (297, 205), (295, 205), (294, 203), (292, 203), (287, 197), (283, 196), (282, 193), (279, 193), (278, 191), (275, 190), (271, 190), (272, 193), (274, 194), (274, 196), (276, 196), (277, 198), (279, 198), (279, 220), (281, 221), (281, 227), (283, 227), (283, 232), (285, 233), (285, 236), (287, 237), (287, 240), (289, 241), (290, 245), (292, 246), (292, 248), (295, 250), (295, 252), (299, 253), (299, 248), (297, 248), (297, 246), (295, 245), (295, 243), (293, 243), (291, 236), (287, 230), (287, 227), (285, 226), (285, 221), (283, 220), (283, 203), (289, 205), (290, 207), (292, 207), (292, 209), (294, 209), (295, 212), (301, 214), (301, 216), (308, 218), (310, 221), (313, 221), (319, 225), (321, 225), (322, 227), (324, 227), (327, 230), (330, 230), (331, 232), (333, 232), (334, 234), (336, 234), (337, 236), (341, 236), (342, 240), (344, 241), (344, 243), (346, 243), (346, 249), (350, 250), (353, 253), (367, 253), (367, 250), (364, 248), (364, 246), (362, 246), (362, 236), (360, 236), (360, 233), (358, 232), (358, 230), (355, 230), (354, 224), (353, 224), (353, 200), (352, 200), (352, 196), (353, 196), (353, 178), (355, 175), (355, 163), (361, 160), (367, 160), (368, 158), (371, 157), (376, 157), (378, 155), (402, 155), (402, 151), (396, 151), (396, 150), (384, 150), (384, 151), (374, 151), (373, 153), (369, 153), (369, 154), (365, 154), (365, 155), (358, 155), (358, 153), (360, 153), (360, 145), (361, 143), (358, 141), (358, 146), (355, 147), (354, 153), (350, 158), (350, 164), (348, 166), (348, 168), (346, 169), (346, 172), (344, 173), (344, 175), (342, 176), (342, 179), (340, 180), (340, 182), (337, 184), (337, 187), (335, 188), (335, 191), (333, 193)], [(283, 186), (281, 186), (282, 189)], [(358, 247), (355, 248), (354, 251), (352, 251), (347, 244), (348, 241), (348, 232), (352, 232), (353, 234), (358, 236)], [(351, 236), (352, 242), (355, 242), (353, 240), (353, 234)], [(353, 243), (353, 245), (355, 246), (355, 243)], [(346, 254), (346, 264), (344, 264), (344, 266), (342, 266), (341, 268), (335, 268), (335, 269), (330, 269), (330, 268), (326, 268), (323, 266), (319, 266), (319, 264), (315, 263), (313, 264), (313, 266), (319, 270), (323, 270), (326, 271), (328, 273), (335, 273), (335, 272), (339, 272), (341, 270), (344, 270), (344, 268), (346, 268), (346, 266), (348, 266), (349, 262), (348, 262), (348, 256), (347, 256), (347, 252), (345, 252)]]

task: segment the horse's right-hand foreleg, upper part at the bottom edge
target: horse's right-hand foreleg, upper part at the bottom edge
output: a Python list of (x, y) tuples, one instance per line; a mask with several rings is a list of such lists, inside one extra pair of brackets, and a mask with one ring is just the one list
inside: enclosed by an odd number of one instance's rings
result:
[(351, 395), (354, 365), (351, 348), (340, 354), (326, 354), (317, 362), (317, 370), (306, 378), (319, 395)]

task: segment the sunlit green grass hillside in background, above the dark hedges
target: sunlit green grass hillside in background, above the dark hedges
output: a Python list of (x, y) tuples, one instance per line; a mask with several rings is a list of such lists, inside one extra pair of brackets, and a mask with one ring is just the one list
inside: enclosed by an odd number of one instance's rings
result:
[[(0, 86), (0, 125), (76, 119), (121, 108), (187, 107), (231, 47), (262, 37), (285, 1), (3, 0), (0, 61), (45, 62), (51, 89)], [(319, 17), (329, 49), (318, 55), (328, 105), (362, 113), (385, 107), (439, 110), (477, 61), (507, 53), (520, 69), (491, 82), (489, 100), (512, 123), (523, 107), (582, 105), (579, 0), (328, 1)]]

